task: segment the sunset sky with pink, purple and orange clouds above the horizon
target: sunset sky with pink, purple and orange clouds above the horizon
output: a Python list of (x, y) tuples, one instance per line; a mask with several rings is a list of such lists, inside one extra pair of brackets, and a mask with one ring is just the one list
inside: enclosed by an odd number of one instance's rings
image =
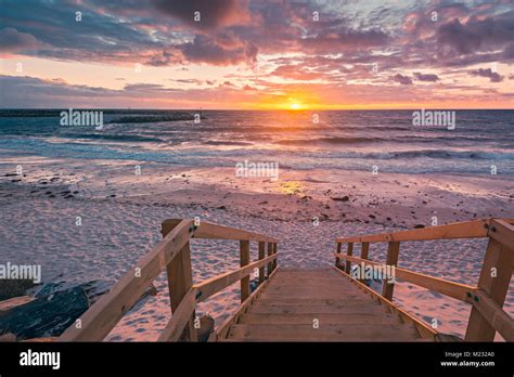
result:
[(0, 107), (514, 108), (514, 1), (0, 0)]

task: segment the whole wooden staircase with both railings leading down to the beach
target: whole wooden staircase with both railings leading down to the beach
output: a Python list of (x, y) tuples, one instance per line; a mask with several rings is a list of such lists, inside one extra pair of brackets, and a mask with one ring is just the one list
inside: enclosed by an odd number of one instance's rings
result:
[[(197, 220), (170, 219), (163, 222), (162, 233), (164, 239), (57, 340), (103, 340), (146, 287), (166, 271), (172, 315), (158, 341), (206, 338), (209, 341), (454, 340), (454, 337), (439, 334), (437, 326), (428, 326), (393, 302), (396, 278), (471, 304), (464, 340), (492, 341), (498, 333), (503, 339), (514, 341), (514, 321), (503, 310), (514, 265), (512, 219), (483, 219), (337, 238), (335, 265), (323, 270), (279, 269), (279, 240), (254, 232)], [(240, 268), (195, 284), (190, 247), (195, 238), (237, 242)], [(459, 238), (488, 239), (476, 286), (398, 266), (400, 243)], [(250, 242), (258, 246), (254, 258)], [(344, 244), (347, 244), (346, 252), (343, 252)], [(358, 244), (359, 257), (354, 255), (354, 246)], [(388, 246), (385, 264), (370, 258), (371, 244)], [(361, 271), (369, 266), (394, 269), (394, 278), (383, 280), (380, 294), (354, 278), (363, 278), (362, 275), (350, 276), (352, 263)], [(257, 283), (253, 291), (250, 278)], [(241, 287), (240, 307), (221, 326), (216, 326), (216, 330), (203, 328), (195, 314), (196, 304), (235, 283)], [(204, 321), (209, 322), (213, 321)]]

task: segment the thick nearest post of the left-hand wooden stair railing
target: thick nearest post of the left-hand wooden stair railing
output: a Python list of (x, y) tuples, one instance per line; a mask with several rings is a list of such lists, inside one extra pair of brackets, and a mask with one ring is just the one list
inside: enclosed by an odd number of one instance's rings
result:
[[(193, 274), (191, 269), (191, 249), (190, 244), (185, 244), (167, 265), (169, 301), (171, 312), (175, 313), (183, 297), (193, 285)], [(196, 329), (194, 328), (195, 313), (191, 315), (185, 328), (180, 337), (183, 341), (197, 341)]]

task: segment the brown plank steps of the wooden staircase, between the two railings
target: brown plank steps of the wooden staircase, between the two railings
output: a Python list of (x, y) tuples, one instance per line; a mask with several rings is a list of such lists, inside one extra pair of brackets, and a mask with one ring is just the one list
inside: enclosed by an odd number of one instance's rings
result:
[(334, 269), (280, 269), (220, 341), (412, 341), (403, 323)]

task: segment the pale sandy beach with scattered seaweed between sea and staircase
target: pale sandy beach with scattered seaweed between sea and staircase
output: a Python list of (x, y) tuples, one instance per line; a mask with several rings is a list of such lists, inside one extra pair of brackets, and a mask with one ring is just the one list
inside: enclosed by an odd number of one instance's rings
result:
[[(0, 253), (38, 263), (43, 282), (114, 283), (160, 239), (160, 222), (194, 218), (269, 234), (280, 239), (279, 265), (333, 264), (335, 238), (431, 226), (487, 217), (514, 218), (513, 184), (502, 176), (445, 176), (298, 171), (278, 180), (237, 178), (233, 168), (191, 168), (140, 161), (41, 158), (0, 161)], [(16, 166), (22, 176), (13, 176)], [(76, 225), (80, 217), (81, 225)], [(317, 219), (316, 219), (317, 218)], [(317, 221), (318, 220), (318, 221)], [(235, 269), (235, 242), (194, 240), (194, 281)], [(386, 247), (370, 257), (385, 260)], [(485, 240), (404, 243), (399, 266), (476, 284)], [(252, 258), (257, 255), (252, 247)], [(136, 306), (106, 340), (155, 340), (170, 317), (167, 282)], [(505, 311), (514, 312), (513, 285)], [(395, 301), (438, 330), (463, 336), (468, 306), (408, 283)], [(239, 303), (233, 285), (200, 304), (219, 325)]]

